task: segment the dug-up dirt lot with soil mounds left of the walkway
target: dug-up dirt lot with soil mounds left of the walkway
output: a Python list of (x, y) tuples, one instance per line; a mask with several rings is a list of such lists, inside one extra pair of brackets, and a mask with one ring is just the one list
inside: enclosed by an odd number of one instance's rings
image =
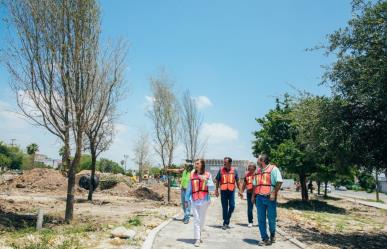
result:
[[(140, 248), (147, 234), (179, 211), (179, 190), (166, 201), (164, 183), (138, 183), (122, 174), (99, 173), (93, 201), (76, 176), (74, 222), (64, 223), (67, 178), (58, 170), (0, 175), (0, 248)], [(37, 214), (43, 226), (36, 231)], [(114, 235), (130, 232), (130, 240)], [(120, 238), (121, 237), (121, 238)]]

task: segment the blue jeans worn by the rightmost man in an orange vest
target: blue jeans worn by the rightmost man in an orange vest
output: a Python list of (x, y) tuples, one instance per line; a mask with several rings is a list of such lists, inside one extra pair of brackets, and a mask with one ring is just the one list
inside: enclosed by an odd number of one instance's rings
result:
[(271, 236), (275, 236), (275, 223), (277, 218), (277, 202), (271, 201), (269, 197), (257, 195), (255, 204), (258, 213), (258, 226), (262, 240), (269, 239), (266, 229), (266, 217), (269, 221), (269, 231)]

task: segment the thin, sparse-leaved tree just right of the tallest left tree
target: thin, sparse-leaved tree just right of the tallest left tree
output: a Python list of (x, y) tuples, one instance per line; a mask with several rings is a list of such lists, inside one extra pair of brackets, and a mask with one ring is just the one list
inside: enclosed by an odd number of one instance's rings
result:
[(116, 47), (105, 50), (98, 65), (96, 87), (99, 91), (88, 107), (88, 112), (92, 115), (85, 129), (85, 147), (90, 150), (92, 159), (89, 201), (93, 198), (94, 188), (92, 186), (94, 186), (97, 157), (106, 151), (113, 142), (117, 103), (124, 92), (123, 72), (126, 53), (126, 44), (119, 43)]

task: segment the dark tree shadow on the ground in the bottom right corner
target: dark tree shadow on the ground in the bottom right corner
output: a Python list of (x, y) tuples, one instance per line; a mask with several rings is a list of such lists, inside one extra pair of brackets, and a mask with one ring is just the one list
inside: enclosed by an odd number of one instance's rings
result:
[(302, 234), (300, 240), (306, 243), (323, 243), (339, 248), (386, 248), (387, 234), (383, 232), (375, 233), (320, 233), (308, 231), (300, 226), (294, 225), (287, 229), (297, 231)]

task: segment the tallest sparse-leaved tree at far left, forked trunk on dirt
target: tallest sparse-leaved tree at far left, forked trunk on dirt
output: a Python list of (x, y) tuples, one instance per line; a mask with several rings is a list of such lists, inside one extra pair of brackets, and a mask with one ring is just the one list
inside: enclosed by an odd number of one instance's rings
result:
[[(75, 172), (91, 116), (99, 55), (100, 10), (93, 0), (7, 1), (19, 41), (10, 42), (7, 67), (23, 114), (65, 146), (68, 188), (65, 220), (73, 218)], [(75, 154), (70, 161), (70, 138)]]

